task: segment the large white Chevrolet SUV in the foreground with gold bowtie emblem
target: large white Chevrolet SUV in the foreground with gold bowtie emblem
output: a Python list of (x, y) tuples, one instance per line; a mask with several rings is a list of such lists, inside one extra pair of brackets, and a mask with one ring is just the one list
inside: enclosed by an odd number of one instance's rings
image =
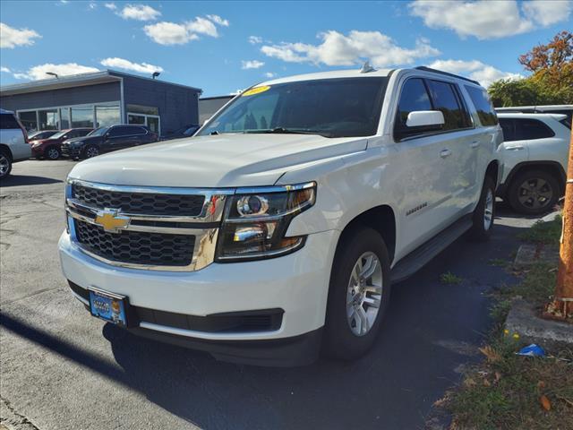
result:
[(449, 73), (264, 82), (192, 138), (75, 166), (64, 276), (91, 314), (218, 359), (360, 357), (392, 283), (490, 236), (501, 142), (485, 90)]

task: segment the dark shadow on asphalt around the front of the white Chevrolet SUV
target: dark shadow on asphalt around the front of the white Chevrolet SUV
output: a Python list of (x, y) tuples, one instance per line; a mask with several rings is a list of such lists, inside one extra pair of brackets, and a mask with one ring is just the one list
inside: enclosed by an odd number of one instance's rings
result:
[[(477, 347), (489, 326), (485, 293), (513, 281), (491, 259), (517, 248), (517, 230), (496, 226), (488, 243), (461, 238), (395, 285), (381, 336), (353, 363), (232, 365), (106, 324), (103, 334), (121, 370), (43, 329), (5, 315), (2, 323), (201, 428), (422, 428), (433, 402), (459, 382), (460, 365), (481, 359)], [(440, 283), (445, 271), (463, 282)]]

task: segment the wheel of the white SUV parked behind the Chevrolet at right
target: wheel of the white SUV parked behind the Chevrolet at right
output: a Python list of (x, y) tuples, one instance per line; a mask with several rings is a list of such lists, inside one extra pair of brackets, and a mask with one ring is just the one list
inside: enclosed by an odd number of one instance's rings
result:
[(544, 170), (527, 170), (512, 179), (507, 197), (514, 211), (539, 215), (555, 206), (559, 194), (560, 185), (555, 176)]

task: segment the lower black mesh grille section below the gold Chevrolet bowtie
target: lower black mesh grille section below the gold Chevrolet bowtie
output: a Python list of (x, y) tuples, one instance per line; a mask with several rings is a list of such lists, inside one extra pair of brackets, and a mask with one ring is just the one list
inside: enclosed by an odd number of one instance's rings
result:
[(103, 228), (75, 220), (78, 242), (107, 260), (156, 266), (191, 264), (195, 236), (167, 235), (124, 230), (108, 233)]

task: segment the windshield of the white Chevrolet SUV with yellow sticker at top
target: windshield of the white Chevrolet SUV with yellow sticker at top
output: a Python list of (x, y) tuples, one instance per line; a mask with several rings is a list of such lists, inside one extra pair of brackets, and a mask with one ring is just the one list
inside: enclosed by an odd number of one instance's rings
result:
[(388, 78), (287, 82), (244, 91), (199, 135), (314, 133), (325, 137), (376, 133)]

